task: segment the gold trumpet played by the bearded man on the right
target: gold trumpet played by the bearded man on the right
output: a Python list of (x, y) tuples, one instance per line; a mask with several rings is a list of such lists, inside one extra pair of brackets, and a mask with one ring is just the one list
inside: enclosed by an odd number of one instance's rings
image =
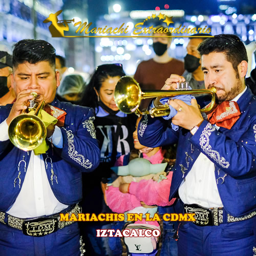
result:
[(187, 88), (179, 88), (178, 90), (144, 90), (140, 89), (138, 82), (130, 76), (121, 77), (115, 88), (115, 102), (118, 109), (126, 114), (135, 113), (138, 116), (150, 114), (152, 117), (167, 116), (170, 113), (169, 105), (161, 105), (150, 110), (141, 112), (138, 108), (142, 99), (156, 98), (156, 97), (174, 97), (177, 95), (187, 94), (210, 94), (211, 103), (207, 108), (200, 109), (201, 112), (210, 111), (215, 104), (216, 88), (201, 89), (201, 90), (187, 90)]

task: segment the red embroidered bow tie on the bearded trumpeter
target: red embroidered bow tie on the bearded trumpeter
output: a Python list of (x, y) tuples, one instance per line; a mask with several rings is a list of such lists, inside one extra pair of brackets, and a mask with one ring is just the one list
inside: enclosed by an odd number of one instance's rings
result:
[(224, 101), (207, 117), (211, 124), (216, 124), (230, 130), (240, 115), (241, 112), (236, 101)]

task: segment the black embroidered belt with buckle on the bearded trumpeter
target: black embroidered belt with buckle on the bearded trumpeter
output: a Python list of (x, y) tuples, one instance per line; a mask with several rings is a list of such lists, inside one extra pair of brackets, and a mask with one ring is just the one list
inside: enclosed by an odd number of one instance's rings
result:
[(204, 208), (198, 204), (184, 204), (184, 210), (187, 214), (195, 214), (196, 221), (191, 221), (197, 226), (219, 226), (223, 223), (248, 220), (256, 216), (256, 211), (252, 211), (242, 217), (233, 217), (227, 214), (227, 219), (223, 219), (223, 207)]

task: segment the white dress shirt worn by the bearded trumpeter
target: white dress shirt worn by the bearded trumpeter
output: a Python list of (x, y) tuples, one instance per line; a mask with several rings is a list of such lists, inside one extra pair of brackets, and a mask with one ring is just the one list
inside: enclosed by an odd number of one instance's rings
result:
[[(231, 101), (238, 101), (246, 89), (247, 87)], [(219, 130), (217, 125), (215, 127)], [(206, 208), (223, 207), (217, 188), (214, 163), (203, 153), (200, 153), (182, 181), (179, 196), (184, 204), (199, 204)]]

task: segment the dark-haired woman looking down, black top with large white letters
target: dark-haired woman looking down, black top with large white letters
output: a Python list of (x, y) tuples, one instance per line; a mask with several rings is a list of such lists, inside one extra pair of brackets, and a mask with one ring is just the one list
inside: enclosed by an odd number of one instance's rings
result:
[[(134, 148), (133, 132), (137, 117), (119, 111), (114, 91), (120, 77), (125, 76), (121, 64), (105, 64), (95, 69), (86, 86), (80, 105), (95, 110), (95, 130), (100, 147), (100, 164), (94, 174), (83, 176), (83, 212), (112, 212), (104, 203), (101, 180), (111, 177), (111, 167), (118, 157), (128, 154)], [(96, 237), (96, 229), (110, 228), (110, 222), (81, 223), (86, 241), (86, 255), (111, 255), (108, 241)]]

